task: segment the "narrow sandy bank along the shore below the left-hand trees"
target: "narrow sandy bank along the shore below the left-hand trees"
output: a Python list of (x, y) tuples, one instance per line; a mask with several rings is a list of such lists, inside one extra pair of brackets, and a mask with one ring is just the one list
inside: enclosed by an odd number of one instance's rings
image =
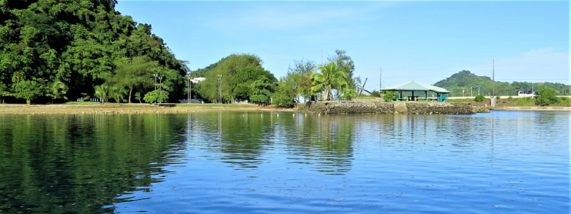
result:
[(186, 112), (293, 112), (278, 107), (241, 106), (183, 106), (156, 107), (151, 105), (0, 105), (0, 114), (148, 114)]

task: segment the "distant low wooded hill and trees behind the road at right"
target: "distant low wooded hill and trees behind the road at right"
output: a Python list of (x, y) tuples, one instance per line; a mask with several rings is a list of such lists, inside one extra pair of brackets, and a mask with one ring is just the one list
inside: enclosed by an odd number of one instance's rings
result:
[[(532, 85), (533, 84), (533, 85)], [(480, 95), (492, 95), (492, 79), (486, 76), (478, 76), (470, 73), (469, 70), (462, 70), (445, 80), (440, 80), (434, 84), (443, 87), (451, 92), (452, 97), (462, 97), (464, 90), (465, 96), (470, 96), (470, 87), (472, 95), (477, 95), (478, 85), (480, 85)], [(552, 82), (499, 82), (495, 81), (495, 95), (497, 96), (517, 96), (520, 90), (540, 90), (540, 88), (550, 88), (555, 90), (557, 95), (571, 95), (570, 85)]]

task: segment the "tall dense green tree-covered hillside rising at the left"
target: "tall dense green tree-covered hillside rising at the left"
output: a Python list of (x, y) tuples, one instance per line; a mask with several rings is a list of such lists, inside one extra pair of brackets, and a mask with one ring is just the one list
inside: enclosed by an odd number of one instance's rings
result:
[(153, 74), (166, 99), (186, 93), (186, 62), (151, 33), (151, 25), (122, 16), (115, 4), (0, 1), (0, 101), (121, 101), (126, 95), (131, 101), (137, 93), (140, 100), (154, 90)]

